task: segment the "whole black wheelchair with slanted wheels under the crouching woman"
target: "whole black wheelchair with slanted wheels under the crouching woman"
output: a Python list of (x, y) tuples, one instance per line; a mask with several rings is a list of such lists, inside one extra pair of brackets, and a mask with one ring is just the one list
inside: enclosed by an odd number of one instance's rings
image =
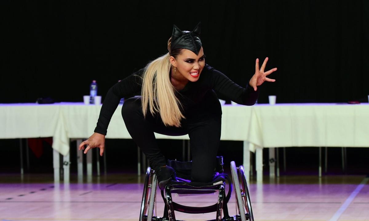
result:
[[(176, 221), (174, 211), (191, 214), (216, 212), (216, 218), (211, 221), (254, 221), (244, 167), (242, 165), (236, 167), (235, 162), (231, 162), (231, 181), (227, 174), (223, 174), (223, 157), (217, 157), (216, 160), (217, 164), (216, 168), (214, 168), (214, 177), (209, 183), (190, 181), (192, 161), (180, 162), (168, 160), (168, 165), (176, 171), (177, 181), (170, 181), (165, 186), (165, 189), (161, 190), (161, 196), (165, 204), (163, 217), (158, 217), (156, 214), (154, 216), (158, 181), (154, 173), (155, 171), (148, 167), (146, 170), (139, 221)], [(226, 181), (229, 186), (227, 195), (225, 194)], [(234, 216), (228, 214), (227, 206), (232, 189), (234, 189), (236, 195), (237, 214)], [(172, 193), (206, 194), (216, 192), (218, 192), (218, 202), (206, 207), (184, 206), (172, 200)]]

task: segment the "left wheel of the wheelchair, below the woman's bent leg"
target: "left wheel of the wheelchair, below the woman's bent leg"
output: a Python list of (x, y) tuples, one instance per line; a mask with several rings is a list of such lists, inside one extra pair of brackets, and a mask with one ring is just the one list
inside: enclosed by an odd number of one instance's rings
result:
[[(146, 176), (145, 176), (145, 182), (144, 182), (144, 192), (142, 193), (141, 211), (139, 215), (139, 221), (151, 221), (153, 209), (154, 209), (154, 203), (155, 203), (156, 183), (157, 183), (156, 175), (154, 175), (154, 171), (152, 171), (151, 168), (148, 167), (146, 170)], [(152, 189), (153, 184), (155, 184), (154, 185), (155, 191), (151, 190), (150, 197), (149, 197), (149, 189)], [(150, 219), (148, 219), (148, 216), (146, 216), (146, 212), (148, 212), (148, 214), (150, 215)]]

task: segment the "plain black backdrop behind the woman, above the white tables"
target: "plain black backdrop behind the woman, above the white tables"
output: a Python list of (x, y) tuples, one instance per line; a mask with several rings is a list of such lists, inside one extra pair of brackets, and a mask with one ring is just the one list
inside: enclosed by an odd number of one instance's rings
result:
[[(246, 85), (269, 57), (259, 103), (367, 101), (369, 2), (1, 1), (0, 103), (81, 101), (166, 53), (173, 24), (202, 22), (206, 63)], [(6, 96), (4, 96), (6, 95)]]

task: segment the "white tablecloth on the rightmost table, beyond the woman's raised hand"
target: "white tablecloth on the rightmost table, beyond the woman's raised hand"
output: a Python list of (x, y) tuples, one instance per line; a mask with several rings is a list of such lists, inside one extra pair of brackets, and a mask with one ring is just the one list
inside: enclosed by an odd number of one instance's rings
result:
[(246, 140), (260, 147), (369, 147), (369, 105), (259, 104)]

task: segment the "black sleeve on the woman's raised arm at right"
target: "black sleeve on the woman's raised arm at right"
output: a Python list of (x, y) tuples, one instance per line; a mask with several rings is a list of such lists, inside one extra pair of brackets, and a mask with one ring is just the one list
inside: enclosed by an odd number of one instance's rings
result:
[(246, 88), (237, 85), (222, 72), (212, 69), (210, 74), (210, 87), (215, 93), (242, 105), (254, 105), (259, 96), (260, 86), (254, 91), (249, 83)]

